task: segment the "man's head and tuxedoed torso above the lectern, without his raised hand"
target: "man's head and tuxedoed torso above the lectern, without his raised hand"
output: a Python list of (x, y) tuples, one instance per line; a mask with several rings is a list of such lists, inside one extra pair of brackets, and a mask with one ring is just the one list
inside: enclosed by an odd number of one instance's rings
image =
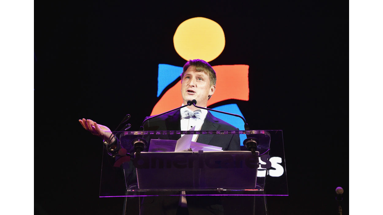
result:
[[(181, 74), (181, 95), (183, 105), (188, 101), (196, 100), (196, 105), (206, 107), (207, 101), (215, 92), (216, 75), (213, 68), (205, 61), (188, 61)], [(145, 119), (143, 127), (145, 130), (235, 130), (236, 127), (214, 117), (208, 110), (187, 106), (181, 110), (152, 116)], [(179, 139), (180, 134), (170, 137)], [(222, 147), (222, 150), (239, 151), (239, 135), (193, 135), (192, 141), (213, 146)]]

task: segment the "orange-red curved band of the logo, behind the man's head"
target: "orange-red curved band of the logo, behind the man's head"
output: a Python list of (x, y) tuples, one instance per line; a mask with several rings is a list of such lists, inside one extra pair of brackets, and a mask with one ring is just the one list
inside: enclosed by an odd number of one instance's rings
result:
[[(249, 101), (248, 65), (219, 65), (213, 66), (213, 69), (217, 76), (216, 90), (207, 106), (229, 99)], [(180, 107), (182, 103), (181, 81), (179, 81), (158, 101), (151, 115)]]

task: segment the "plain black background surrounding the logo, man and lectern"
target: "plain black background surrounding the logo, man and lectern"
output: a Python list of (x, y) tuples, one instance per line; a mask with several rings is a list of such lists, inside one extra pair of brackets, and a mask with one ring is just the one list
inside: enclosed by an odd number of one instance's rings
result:
[(289, 196), (268, 197), (270, 215), (335, 215), (338, 186), (349, 213), (348, 1), (54, 1), (34, 11), (35, 214), (122, 214), (123, 198), (98, 197), (102, 141), (78, 119), (113, 129), (129, 113), (137, 130), (159, 100), (158, 64), (186, 62), (174, 32), (197, 16), (225, 32), (211, 65), (250, 66), (250, 99), (235, 101), (250, 127), (283, 130)]

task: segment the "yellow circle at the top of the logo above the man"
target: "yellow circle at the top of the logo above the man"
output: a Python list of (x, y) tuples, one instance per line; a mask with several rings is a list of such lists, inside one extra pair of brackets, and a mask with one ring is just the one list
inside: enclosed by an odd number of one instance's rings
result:
[(225, 34), (215, 21), (194, 17), (182, 22), (173, 37), (174, 48), (185, 60), (206, 62), (217, 58), (225, 47)]

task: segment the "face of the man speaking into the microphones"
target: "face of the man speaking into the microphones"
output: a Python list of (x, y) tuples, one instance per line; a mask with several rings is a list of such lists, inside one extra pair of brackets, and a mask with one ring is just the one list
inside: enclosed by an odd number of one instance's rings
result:
[(190, 66), (181, 80), (181, 94), (184, 105), (195, 99), (197, 106), (206, 107), (209, 96), (215, 92), (215, 86), (210, 86), (210, 78), (205, 72), (197, 72)]

